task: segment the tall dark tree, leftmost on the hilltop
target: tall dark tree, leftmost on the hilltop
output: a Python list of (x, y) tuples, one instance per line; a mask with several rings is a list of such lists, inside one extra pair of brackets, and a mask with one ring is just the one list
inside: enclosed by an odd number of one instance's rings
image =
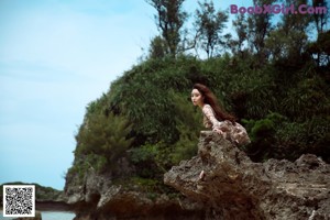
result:
[(179, 51), (182, 42), (180, 30), (187, 19), (187, 13), (183, 11), (185, 0), (145, 0), (156, 9), (156, 25), (161, 35), (167, 44), (169, 55), (175, 57)]

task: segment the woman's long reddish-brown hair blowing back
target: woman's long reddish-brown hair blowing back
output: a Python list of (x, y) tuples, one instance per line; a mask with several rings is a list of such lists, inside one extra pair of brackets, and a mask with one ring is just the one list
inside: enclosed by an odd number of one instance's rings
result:
[(204, 96), (204, 102), (212, 107), (216, 118), (219, 121), (229, 120), (232, 123), (235, 123), (235, 117), (223, 110), (223, 108), (218, 103), (217, 97), (208, 87), (202, 84), (195, 84), (193, 88), (197, 89)]

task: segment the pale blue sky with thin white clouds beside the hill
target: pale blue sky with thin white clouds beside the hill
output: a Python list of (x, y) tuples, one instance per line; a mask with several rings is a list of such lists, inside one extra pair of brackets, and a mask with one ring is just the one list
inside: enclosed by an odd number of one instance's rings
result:
[(154, 13), (144, 0), (0, 1), (0, 184), (63, 189), (85, 107), (145, 54)]

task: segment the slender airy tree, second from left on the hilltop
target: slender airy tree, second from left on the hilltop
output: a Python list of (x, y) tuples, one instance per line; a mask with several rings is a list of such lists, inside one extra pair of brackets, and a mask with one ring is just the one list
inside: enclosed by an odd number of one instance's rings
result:
[(208, 58), (213, 56), (217, 46), (224, 44), (221, 42), (221, 33), (226, 28), (228, 15), (222, 11), (216, 11), (213, 2), (205, 0), (199, 2), (196, 10), (196, 28), (199, 33), (201, 47), (206, 51)]

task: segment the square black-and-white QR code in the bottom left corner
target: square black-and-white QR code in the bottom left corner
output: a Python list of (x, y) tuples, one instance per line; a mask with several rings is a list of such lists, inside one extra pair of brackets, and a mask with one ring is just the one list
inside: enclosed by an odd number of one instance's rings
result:
[(3, 217), (34, 217), (34, 185), (3, 185)]

